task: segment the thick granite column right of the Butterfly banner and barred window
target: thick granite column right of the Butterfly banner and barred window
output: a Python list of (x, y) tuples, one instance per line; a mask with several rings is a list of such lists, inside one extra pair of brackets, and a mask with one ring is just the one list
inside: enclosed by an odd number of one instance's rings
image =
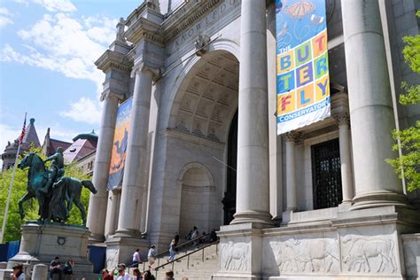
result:
[(385, 159), (395, 128), (377, 1), (342, 1), (346, 72), (354, 159), (354, 209), (404, 205), (401, 181)]

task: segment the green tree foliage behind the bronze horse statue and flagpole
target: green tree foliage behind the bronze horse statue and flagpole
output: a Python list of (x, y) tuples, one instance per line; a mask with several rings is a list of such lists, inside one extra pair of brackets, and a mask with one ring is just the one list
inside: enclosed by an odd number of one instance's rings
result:
[[(46, 159), (43, 156), (40, 148), (31, 148), (30, 152), (36, 152), (41, 158)], [(24, 155), (26, 156), (26, 154)], [(23, 157), (20, 156), (19, 160)], [(75, 166), (74, 164), (67, 165), (65, 167), (66, 177), (74, 177), (79, 180), (89, 179), (89, 176), (84, 175), (82, 168)], [(7, 196), (9, 194), (9, 188), (12, 180), (12, 168), (0, 173), (0, 224), (4, 219), (4, 209), (6, 206)], [(20, 220), (19, 215), (19, 199), (22, 198), (27, 192), (27, 169), (21, 170), (16, 168), (16, 174), (13, 182), (12, 195), (9, 205), (8, 218), (6, 223), (6, 229), (4, 232), (4, 242), (20, 240), (20, 226), (27, 221), (37, 220), (38, 219), (38, 201), (33, 198), (26, 203), (23, 207), (25, 209), (25, 220)], [(86, 188), (82, 189), (82, 205), (87, 210), (89, 205), (89, 190)], [(87, 213), (87, 211), (86, 211)], [(73, 206), (70, 211), (70, 218), (67, 223), (69, 224), (82, 224), (82, 218), (79, 209), (76, 206)]]

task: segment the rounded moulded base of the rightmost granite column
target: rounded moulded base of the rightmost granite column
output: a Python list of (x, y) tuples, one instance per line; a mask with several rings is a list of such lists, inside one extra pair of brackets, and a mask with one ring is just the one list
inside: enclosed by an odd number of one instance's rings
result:
[(381, 206), (408, 206), (408, 198), (393, 191), (371, 191), (356, 195), (353, 198), (351, 210), (381, 207)]

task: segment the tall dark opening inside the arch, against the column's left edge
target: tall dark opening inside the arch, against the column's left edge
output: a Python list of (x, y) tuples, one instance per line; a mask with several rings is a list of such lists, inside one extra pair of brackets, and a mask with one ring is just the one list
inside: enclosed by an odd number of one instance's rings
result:
[(228, 139), (228, 167), (227, 186), (222, 199), (224, 218), (223, 224), (229, 224), (233, 220), (233, 214), (237, 210), (237, 113), (233, 116), (229, 128)]

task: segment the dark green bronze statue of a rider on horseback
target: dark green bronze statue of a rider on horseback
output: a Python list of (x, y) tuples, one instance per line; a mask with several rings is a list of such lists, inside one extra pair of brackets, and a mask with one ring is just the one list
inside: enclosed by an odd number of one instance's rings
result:
[[(50, 160), (50, 169), (46, 169), (45, 163)], [(82, 187), (88, 188), (92, 193), (97, 193), (97, 190), (89, 180), (79, 181), (64, 177), (63, 148), (58, 147), (56, 153), (45, 160), (35, 152), (29, 152), (20, 160), (18, 167), (29, 167), (27, 193), (19, 200), (19, 214), (22, 220), (25, 218), (23, 203), (36, 198), (39, 204), (39, 221), (66, 222), (75, 204), (81, 211), (83, 225), (86, 225), (86, 213), (80, 200)]]

